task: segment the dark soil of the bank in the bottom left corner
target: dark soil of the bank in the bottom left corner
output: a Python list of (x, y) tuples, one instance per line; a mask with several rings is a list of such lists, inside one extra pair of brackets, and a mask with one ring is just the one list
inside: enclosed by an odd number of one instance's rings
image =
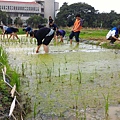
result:
[[(0, 88), (0, 120), (14, 120), (12, 116), (9, 117), (11, 103), (14, 98), (12, 98), (11, 95), (9, 94), (11, 91), (11, 88), (5, 85), (5, 89), (3, 90)], [(13, 115), (15, 116), (16, 119), (19, 119), (21, 116), (21, 113), (22, 112), (21, 112), (20, 105), (16, 102)]]

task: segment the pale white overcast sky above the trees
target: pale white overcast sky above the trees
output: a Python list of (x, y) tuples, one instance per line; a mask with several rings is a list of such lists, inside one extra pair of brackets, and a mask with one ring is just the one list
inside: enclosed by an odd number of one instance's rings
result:
[(110, 12), (111, 10), (114, 10), (117, 13), (120, 13), (120, 0), (55, 0), (56, 2), (59, 2), (59, 6), (63, 5), (64, 2), (67, 2), (68, 5), (77, 3), (77, 2), (85, 2), (92, 7), (95, 8), (95, 10), (99, 10), (99, 12)]

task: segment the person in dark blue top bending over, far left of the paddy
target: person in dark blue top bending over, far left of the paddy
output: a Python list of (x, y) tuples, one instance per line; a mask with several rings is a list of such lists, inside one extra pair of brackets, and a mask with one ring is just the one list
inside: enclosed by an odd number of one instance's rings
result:
[(12, 36), (13, 36), (13, 39), (14, 39), (14, 37), (16, 37), (17, 39), (19, 39), (19, 37), (17, 36), (17, 32), (19, 32), (19, 29), (18, 29), (18, 28), (8, 27), (8, 28), (5, 30), (5, 33), (4, 33), (4, 34), (10, 34), (10, 37), (9, 37), (8, 39), (10, 39)]

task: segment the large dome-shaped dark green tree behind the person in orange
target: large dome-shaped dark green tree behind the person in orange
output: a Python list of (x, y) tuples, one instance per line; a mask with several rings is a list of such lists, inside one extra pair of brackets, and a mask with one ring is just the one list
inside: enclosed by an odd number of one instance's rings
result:
[(85, 20), (85, 25), (88, 27), (93, 26), (96, 10), (94, 7), (81, 2), (69, 6), (65, 2), (60, 8), (60, 12), (58, 12), (55, 22), (58, 26), (72, 26), (77, 13), (79, 13), (81, 18)]

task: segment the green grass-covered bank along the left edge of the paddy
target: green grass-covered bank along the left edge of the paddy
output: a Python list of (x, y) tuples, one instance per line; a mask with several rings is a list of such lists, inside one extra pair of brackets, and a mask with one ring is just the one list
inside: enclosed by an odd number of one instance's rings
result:
[[(10, 91), (11, 88), (7, 86), (7, 84), (4, 82), (3, 77), (2, 77), (2, 69), (6, 67), (6, 81), (13, 86), (16, 84), (17, 91), (19, 90), (20, 87), (20, 79), (19, 75), (15, 70), (13, 70), (8, 63), (8, 58), (7, 54), (4, 52), (2, 47), (0, 47), (0, 69), (1, 69), (1, 76), (0, 76), (0, 111), (3, 113), (3, 118), (5, 117), (4, 115), (7, 114), (6, 111), (9, 111), (10, 104), (12, 102), (12, 97), (10, 96)], [(20, 110), (15, 109), (14, 114), (19, 117), (19, 112)], [(17, 114), (16, 114), (17, 113)], [(1, 114), (0, 114), (1, 115)]]

